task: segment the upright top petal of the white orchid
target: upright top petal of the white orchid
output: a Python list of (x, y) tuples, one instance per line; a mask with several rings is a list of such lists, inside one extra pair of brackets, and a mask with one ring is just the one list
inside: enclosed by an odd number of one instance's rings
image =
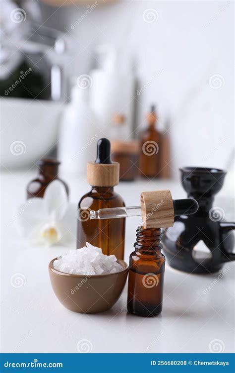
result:
[(46, 188), (44, 208), (48, 217), (56, 220), (62, 219), (68, 204), (68, 197), (64, 185), (59, 180), (54, 180)]

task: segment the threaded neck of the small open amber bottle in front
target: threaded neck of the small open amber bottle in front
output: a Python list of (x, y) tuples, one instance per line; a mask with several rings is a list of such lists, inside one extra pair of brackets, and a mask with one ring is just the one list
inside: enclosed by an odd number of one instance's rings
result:
[(134, 244), (135, 250), (144, 252), (160, 252), (162, 249), (161, 245), (161, 229), (160, 228), (148, 228), (144, 229), (143, 226), (139, 226), (136, 231), (136, 242)]

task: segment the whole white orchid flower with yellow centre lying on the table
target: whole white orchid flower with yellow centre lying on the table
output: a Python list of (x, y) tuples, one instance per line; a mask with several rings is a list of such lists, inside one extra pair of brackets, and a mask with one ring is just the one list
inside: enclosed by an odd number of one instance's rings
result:
[(30, 198), (20, 205), (16, 216), (20, 235), (33, 244), (75, 244), (76, 205), (68, 202), (59, 180), (49, 184), (43, 198)]

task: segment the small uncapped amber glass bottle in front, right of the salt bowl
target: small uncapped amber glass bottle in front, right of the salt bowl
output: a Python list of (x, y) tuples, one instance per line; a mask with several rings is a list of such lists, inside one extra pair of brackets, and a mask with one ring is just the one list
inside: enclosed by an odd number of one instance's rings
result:
[(139, 316), (156, 316), (162, 311), (165, 271), (161, 230), (140, 226), (136, 237), (129, 259), (127, 310)]

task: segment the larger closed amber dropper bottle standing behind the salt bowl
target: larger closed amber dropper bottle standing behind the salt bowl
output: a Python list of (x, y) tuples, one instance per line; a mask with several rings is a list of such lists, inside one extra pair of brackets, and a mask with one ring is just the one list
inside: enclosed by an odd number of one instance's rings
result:
[(122, 197), (114, 191), (119, 182), (119, 164), (110, 158), (110, 141), (102, 138), (97, 143), (97, 159), (87, 164), (87, 182), (91, 190), (83, 195), (77, 212), (77, 249), (86, 242), (100, 247), (103, 254), (124, 256), (125, 218), (90, 220), (90, 210), (123, 207)]

